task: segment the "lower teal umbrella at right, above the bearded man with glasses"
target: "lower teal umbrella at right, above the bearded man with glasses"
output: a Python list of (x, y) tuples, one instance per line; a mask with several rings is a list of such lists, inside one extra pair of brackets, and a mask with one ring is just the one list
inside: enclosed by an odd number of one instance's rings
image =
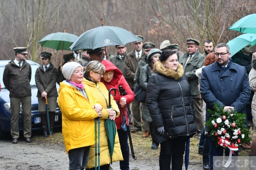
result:
[(231, 57), (248, 44), (251, 44), (252, 46), (256, 44), (256, 34), (242, 34), (228, 41), (227, 45), (230, 48)]

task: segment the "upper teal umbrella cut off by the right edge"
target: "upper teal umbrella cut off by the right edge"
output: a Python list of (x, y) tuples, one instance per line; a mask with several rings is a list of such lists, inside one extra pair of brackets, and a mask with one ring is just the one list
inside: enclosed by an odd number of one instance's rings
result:
[(247, 15), (235, 22), (229, 30), (256, 34), (256, 14)]

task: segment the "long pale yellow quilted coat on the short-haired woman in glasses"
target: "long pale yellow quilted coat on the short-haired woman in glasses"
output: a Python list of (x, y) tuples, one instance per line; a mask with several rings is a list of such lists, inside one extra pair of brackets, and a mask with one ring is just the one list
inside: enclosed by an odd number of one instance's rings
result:
[[(100, 119), (100, 165), (106, 165), (111, 162), (109, 149), (108, 149), (108, 135), (106, 133), (106, 129), (104, 125), (105, 119), (108, 119), (108, 116), (109, 116), (108, 111), (106, 110), (106, 108), (108, 108), (108, 102), (109, 102), (109, 91), (106, 89), (105, 85), (102, 82), (94, 83), (90, 81), (88, 78), (87, 79), (84, 78), (83, 84), (86, 85), (85, 88), (88, 88), (88, 90), (94, 95), (94, 97), (102, 105), (102, 118)], [(113, 99), (113, 96), (111, 96), (111, 106), (114, 109), (114, 111), (116, 111), (116, 115), (118, 118), (120, 112), (118, 109), (118, 105)], [(123, 155), (120, 149), (118, 134), (116, 132), (112, 162), (116, 162), (119, 160), (123, 160)], [(93, 167), (95, 167), (95, 145), (91, 145), (89, 162), (86, 168), (93, 168)]]

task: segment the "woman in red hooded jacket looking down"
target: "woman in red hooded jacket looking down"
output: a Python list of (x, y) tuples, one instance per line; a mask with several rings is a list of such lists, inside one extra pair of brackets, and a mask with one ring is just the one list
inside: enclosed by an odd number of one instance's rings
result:
[[(103, 73), (101, 82), (104, 83), (108, 90), (111, 88), (116, 89), (116, 96), (114, 96), (113, 90), (111, 93), (120, 109), (120, 116), (115, 119), (120, 147), (124, 158), (123, 161), (120, 161), (120, 169), (129, 170), (128, 132), (125, 124), (124, 112), (127, 112), (126, 105), (133, 101), (135, 95), (126, 82), (123, 73), (113, 63), (108, 60), (103, 60), (101, 64), (105, 66), (106, 70), (105, 73)], [(124, 94), (124, 96), (120, 94), (119, 86), (123, 86), (123, 89), (126, 90), (127, 94)]]

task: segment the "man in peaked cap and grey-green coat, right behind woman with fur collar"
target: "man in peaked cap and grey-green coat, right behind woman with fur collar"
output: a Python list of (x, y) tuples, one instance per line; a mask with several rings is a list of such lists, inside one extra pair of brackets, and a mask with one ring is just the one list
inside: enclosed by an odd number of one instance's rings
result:
[(183, 65), (184, 72), (188, 79), (188, 84), (191, 90), (193, 104), (195, 108), (195, 124), (197, 128), (197, 137), (203, 131), (203, 114), (200, 107), (200, 96), (198, 84), (199, 80), (195, 72), (203, 66), (205, 56), (200, 54), (198, 50), (199, 42), (196, 39), (187, 39), (187, 52), (179, 58), (179, 63)]

